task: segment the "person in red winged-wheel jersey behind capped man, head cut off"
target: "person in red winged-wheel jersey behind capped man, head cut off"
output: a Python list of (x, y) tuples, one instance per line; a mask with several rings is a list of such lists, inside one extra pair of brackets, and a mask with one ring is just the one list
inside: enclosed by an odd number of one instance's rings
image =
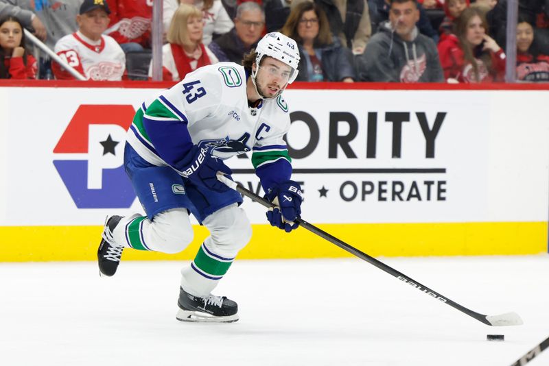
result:
[(105, 34), (115, 38), (125, 53), (150, 49), (152, 1), (105, 0), (110, 9), (110, 23)]

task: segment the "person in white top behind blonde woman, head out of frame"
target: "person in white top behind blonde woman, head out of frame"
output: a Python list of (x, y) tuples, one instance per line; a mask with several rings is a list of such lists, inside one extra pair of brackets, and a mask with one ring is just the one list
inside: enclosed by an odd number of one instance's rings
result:
[(189, 3), (195, 5), (196, 8), (202, 10), (202, 19), (204, 20), (204, 35), (202, 43), (208, 46), (213, 37), (222, 36), (229, 32), (235, 24), (227, 14), (221, 0), (164, 0), (163, 19), (164, 30), (170, 27), (170, 21), (176, 11), (179, 3)]

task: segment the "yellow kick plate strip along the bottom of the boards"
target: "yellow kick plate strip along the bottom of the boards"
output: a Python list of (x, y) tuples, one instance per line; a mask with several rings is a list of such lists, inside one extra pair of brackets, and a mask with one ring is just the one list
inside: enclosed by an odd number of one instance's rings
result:
[[(547, 252), (547, 223), (325, 224), (319, 228), (370, 256), (476, 256)], [(124, 260), (189, 260), (207, 230), (179, 254), (126, 250)], [(95, 260), (102, 226), (2, 227), (1, 262)], [(17, 245), (13, 245), (17, 243)], [(39, 244), (38, 244), (39, 243)], [(253, 239), (239, 259), (339, 258), (352, 256), (303, 228), (285, 234), (253, 225)]]

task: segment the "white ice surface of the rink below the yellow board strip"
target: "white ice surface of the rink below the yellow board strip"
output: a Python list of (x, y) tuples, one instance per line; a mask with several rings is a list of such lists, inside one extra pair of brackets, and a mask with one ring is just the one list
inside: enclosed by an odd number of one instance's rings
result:
[[(233, 324), (176, 321), (183, 263), (0, 264), (0, 365), (511, 365), (549, 336), (549, 256), (379, 258), (490, 327), (359, 260), (236, 260)], [(490, 342), (487, 334), (504, 334)], [(528, 366), (549, 365), (549, 350)]]

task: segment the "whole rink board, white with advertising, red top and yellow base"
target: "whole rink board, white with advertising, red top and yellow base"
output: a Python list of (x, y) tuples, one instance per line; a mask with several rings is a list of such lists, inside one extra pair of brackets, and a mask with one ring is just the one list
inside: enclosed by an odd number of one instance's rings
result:
[[(121, 166), (125, 131), (141, 101), (167, 85), (3, 85), (0, 262), (93, 260), (106, 215), (141, 211)], [(372, 256), (548, 251), (547, 87), (307, 87), (285, 97), (309, 223)], [(227, 164), (263, 194), (249, 159)], [(242, 207), (254, 235), (239, 258), (348, 255), (307, 230), (274, 230), (248, 199)], [(193, 258), (206, 236), (196, 225), (181, 254), (124, 256)]]

